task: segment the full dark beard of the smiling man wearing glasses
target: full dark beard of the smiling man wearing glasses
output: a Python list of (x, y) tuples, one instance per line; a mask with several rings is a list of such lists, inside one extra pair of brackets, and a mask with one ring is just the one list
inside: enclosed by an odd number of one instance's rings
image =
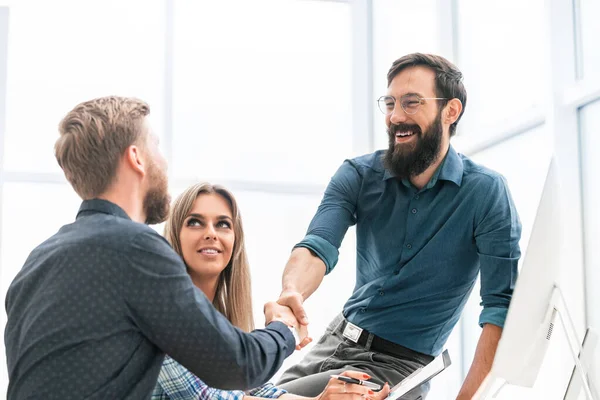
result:
[[(416, 143), (396, 143), (396, 132), (412, 131)], [(383, 156), (383, 166), (398, 179), (409, 179), (425, 172), (433, 164), (442, 146), (442, 114), (438, 113), (425, 133), (418, 125), (391, 124), (388, 128), (389, 148)]]

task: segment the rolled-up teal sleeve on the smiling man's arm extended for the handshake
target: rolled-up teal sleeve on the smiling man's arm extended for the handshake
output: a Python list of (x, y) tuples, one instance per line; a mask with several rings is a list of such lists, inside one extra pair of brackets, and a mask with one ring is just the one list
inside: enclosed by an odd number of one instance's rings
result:
[(362, 176), (350, 160), (337, 170), (313, 217), (306, 236), (294, 247), (312, 250), (330, 273), (338, 261), (342, 240), (348, 228), (356, 224), (356, 205)]

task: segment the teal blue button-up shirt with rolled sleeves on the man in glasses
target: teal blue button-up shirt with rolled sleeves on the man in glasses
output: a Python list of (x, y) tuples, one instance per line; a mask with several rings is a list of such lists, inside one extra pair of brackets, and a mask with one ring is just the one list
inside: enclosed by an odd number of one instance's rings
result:
[(346, 160), (329, 183), (306, 237), (327, 273), (356, 224), (352, 323), (437, 355), (481, 272), (480, 324), (503, 326), (517, 278), (521, 223), (504, 178), (450, 146), (417, 190), (383, 167), (383, 151)]

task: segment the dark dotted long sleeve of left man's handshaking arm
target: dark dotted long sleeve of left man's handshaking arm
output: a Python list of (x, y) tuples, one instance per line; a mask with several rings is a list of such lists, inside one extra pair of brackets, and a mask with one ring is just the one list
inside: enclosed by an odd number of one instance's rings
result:
[(132, 239), (120, 271), (129, 318), (158, 348), (211, 387), (265, 383), (295, 348), (281, 322), (250, 333), (234, 327), (196, 288), (181, 258), (157, 233)]

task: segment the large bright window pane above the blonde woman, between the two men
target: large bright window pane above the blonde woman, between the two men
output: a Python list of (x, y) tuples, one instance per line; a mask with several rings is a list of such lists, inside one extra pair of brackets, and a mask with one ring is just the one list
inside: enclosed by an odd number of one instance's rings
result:
[(352, 150), (350, 47), (348, 4), (176, 2), (174, 176), (326, 183)]

